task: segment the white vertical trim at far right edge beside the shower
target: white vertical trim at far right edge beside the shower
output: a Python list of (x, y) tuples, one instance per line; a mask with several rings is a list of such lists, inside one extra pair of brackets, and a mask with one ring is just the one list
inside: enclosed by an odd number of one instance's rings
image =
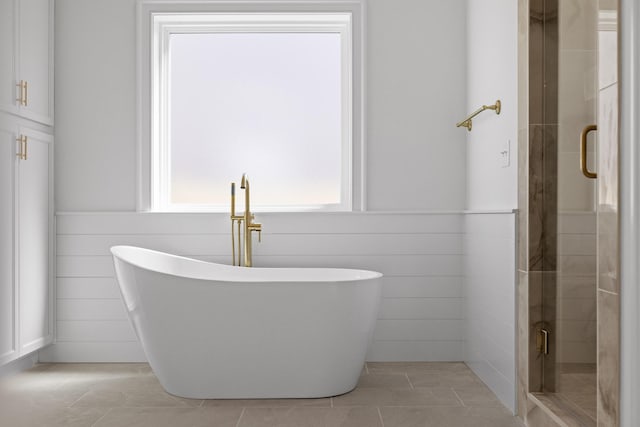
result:
[(620, 0), (620, 426), (640, 420), (640, 4)]

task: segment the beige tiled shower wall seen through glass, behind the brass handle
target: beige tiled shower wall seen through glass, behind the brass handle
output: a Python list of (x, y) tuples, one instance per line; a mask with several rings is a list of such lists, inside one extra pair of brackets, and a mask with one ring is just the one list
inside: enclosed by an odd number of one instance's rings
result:
[[(596, 123), (596, 15), (596, 0), (558, 2), (556, 363), (596, 362), (596, 180), (578, 167), (580, 133)], [(595, 139), (592, 133), (590, 170), (597, 169)]]

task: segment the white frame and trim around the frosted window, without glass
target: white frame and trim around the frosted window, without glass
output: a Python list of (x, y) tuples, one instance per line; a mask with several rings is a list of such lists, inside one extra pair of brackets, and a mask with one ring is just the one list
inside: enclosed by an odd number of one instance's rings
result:
[[(343, 126), (342, 200), (339, 205), (316, 205), (304, 207), (278, 208), (277, 211), (360, 211), (364, 209), (364, 0), (344, 1), (205, 1), (182, 2), (163, 0), (139, 0), (138, 2), (138, 211), (220, 211), (212, 207), (172, 206), (168, 195), (168, 153), (167, 144), (154, 146), (153, 141), (168, 135), (166, 111), (157, 105), (158, 98), (167, 96), (167, 87), (160, 84), (163, 79), (162, 62), (158, 61), (164, 49), (168, 49), (168, 39), (172, 32), (198, 32), (197, 27), (205, 26), (213, 32), (223, 32), (225, 25), (233, 30), (265, 32), (340, 32), (341, 39), (349, 46), (343, 52), (350, 54), (347, 64), (347, 79), (350, 90), (343, 99), (350, 120)], [(350, 25), (344, 19), (330, 19), (331, 14), (340, 17), (350, 15)], [(181, 14), (181, 19), (175, 19)], [(223, 17), (212, 22), (206, 15)], [(290, 14), (291, 19), (284, 18)], [(201, 15), (200, 17), (198, 15)], [(314, 18), (315, 16), (315, 18)], [(274, 18), (275, 17), (275, 18)], [(241, 18), (241, 19), (240, 19)], [(304, 25), (300, 25), (303, 18)], [(227, 19), (229, 22), (223, 23)], [(216, 21), (216, 20), (214, 20)], [(349, 31), (350, 30), (350, 31)], [(199, 30), (200, 32), (202, 30)], [(157, 42), (154, 42), (157, 41)], [(164, 61), (166, 62), (166, 61)], [(344, 63), (344, 61), (343, 61)], [(343, 70), (343, 73), (345, 70)], [(346, 139), (345, 139), (346, 138)], [(165, 141), (166, 142), (166, 141)], [(155, 165), (161, 165), (156, 168)], [(164, 166), (163, 166), (164, 165)], [(165, 171), (161, 171), (162, 167)], [(249, 171), (250, 172), (250, 171)], [(258, 208), (258, 210), (260, 210)], [(223, 210), (224, 211), (224, 210)]]

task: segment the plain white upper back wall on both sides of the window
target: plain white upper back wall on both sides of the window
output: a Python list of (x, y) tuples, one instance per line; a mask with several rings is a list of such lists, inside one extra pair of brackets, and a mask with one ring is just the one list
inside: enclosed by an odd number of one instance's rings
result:
[[(369, 0), (368, 207), (464, 207), (465, 1)], [(56, 1), (56, 208), (133, 211), (136, 0)]]

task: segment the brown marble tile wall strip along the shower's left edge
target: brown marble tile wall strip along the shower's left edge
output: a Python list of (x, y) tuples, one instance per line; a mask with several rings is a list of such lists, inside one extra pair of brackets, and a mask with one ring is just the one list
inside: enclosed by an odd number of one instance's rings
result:
[(518, 2), (517, 402), (527, 425), (553, 425), (530, 392), (553, 368), (536, 351), (536, 331), (555, 319), (555, 299), (542, 297), (555, 289), (557, 261), (557, 26), (557, 0)]

